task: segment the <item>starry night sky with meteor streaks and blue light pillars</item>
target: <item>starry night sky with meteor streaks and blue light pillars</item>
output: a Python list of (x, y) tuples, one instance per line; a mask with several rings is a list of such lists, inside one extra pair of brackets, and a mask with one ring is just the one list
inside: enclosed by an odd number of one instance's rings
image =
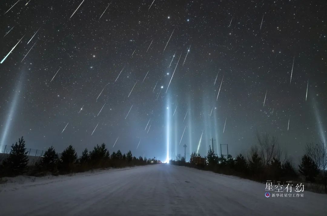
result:
[(297, 161), (327, 138), (325, 1), (16, 2), (0, 3), (1, 152), (24, 136), (188, 160), (258, 131)]

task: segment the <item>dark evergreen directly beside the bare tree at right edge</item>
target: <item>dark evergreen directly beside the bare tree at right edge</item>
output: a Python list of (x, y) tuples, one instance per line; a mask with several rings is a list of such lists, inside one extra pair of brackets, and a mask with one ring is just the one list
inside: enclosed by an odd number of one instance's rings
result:
[(315, 177), (319, 174), (317, 165), (308, 155), (302, 156), (299, 172), (305, 176), (306, 181), (311, 182), (314, 182)]

